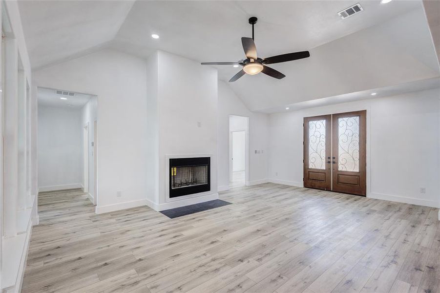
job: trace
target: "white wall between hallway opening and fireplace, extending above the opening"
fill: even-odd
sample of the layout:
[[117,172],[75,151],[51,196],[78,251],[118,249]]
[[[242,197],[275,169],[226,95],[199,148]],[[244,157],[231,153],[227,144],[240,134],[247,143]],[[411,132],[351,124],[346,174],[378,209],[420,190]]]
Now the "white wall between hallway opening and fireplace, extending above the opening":
[[145,204],[146,71],[145,60],[104,49],[34,73],[38,86],[98,96],[98,213]]

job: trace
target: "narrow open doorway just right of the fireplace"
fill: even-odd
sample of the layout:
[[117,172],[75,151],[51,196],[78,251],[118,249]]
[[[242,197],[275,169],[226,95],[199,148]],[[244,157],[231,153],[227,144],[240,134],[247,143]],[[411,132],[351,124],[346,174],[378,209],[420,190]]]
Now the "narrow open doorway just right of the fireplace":
[[230,115],[230,187],[239,187],[248,182],[248,123],[249,118]]

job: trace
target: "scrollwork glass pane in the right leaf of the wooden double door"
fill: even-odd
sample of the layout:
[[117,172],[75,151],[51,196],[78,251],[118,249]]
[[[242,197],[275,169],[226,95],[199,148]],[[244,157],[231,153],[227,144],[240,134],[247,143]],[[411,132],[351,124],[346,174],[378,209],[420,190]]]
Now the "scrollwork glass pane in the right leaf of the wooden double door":
[[359,116],[338,119],[338,170],[359,172]]

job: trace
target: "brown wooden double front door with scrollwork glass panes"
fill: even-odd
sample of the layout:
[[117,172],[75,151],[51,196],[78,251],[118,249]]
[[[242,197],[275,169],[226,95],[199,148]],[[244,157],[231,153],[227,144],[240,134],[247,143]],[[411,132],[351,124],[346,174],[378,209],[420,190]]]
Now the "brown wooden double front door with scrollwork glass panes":
[[366,195],[366,111],[304,118],[304,187]]

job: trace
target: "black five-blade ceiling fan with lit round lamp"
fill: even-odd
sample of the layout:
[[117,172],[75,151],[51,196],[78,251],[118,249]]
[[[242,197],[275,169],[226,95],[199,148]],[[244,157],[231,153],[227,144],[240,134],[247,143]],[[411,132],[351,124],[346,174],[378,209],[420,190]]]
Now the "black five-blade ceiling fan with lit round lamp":
[[251,17],[249,23],[252,24],[252,38],[241,38],[241,43],[245,51],[246,59],[238,62],[204,62],[202,65],[241,65],[243,69],[235,74],[229,82],[235,82],[237,79],[245,75],[245,73],[254,75],[260,72],[272,76],[277,79],[286,77],[281,72],[266,66],[266,64],[281,63],[310,57],[309,51],[294,52],[261,59],[257,57],[257,49],[253,42],[253,25],[257,23],[256,17]]

